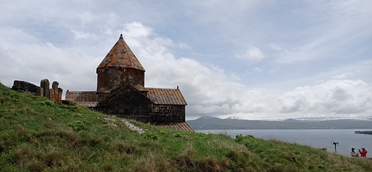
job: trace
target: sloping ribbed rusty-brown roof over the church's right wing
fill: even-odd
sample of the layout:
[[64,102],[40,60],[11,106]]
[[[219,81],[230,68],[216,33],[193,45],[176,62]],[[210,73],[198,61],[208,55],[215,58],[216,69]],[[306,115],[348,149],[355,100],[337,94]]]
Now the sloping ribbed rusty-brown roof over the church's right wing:
[[185,98],[179,89],[146,88],[147,97],[155,104],[164,105],[187,105]]

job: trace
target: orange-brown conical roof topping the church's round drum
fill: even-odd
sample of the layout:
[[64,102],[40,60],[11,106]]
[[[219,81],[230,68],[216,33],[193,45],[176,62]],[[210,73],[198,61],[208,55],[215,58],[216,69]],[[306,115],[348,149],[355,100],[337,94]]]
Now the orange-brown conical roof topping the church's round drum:
[[97,69],[102,67],[128,67],[145,71],[140,61],[125,43],[122,34]]

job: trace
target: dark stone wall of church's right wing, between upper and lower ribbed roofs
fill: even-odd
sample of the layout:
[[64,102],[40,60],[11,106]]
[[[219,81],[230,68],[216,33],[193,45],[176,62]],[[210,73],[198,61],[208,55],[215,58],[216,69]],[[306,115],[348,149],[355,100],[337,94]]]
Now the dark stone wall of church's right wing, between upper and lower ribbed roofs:
[[153,123],[185,122],[185,105],[153,104]]

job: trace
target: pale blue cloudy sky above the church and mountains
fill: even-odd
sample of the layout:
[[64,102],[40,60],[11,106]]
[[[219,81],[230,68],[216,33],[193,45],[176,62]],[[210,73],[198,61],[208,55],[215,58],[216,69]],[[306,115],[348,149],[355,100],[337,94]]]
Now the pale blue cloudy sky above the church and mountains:
[[121,32],[186,120],[372,115],[372,1],[0,1],[0,81],[95,91]]

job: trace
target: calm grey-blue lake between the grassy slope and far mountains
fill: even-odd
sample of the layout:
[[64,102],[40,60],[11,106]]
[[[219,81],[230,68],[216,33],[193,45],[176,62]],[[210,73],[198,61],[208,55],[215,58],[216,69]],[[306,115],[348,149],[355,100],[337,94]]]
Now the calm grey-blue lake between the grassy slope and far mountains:
[[277,139],[288,143],[298,143],[311,147],[325,147],[328,152],[334,152],[332,141],[339,142],[336,146],[337,153],[350,156],[351,148],[361,149],[364,147],[372,157],[372,135],[354,134],[354,131],[371,131],[371,129],[348,129],[348,130],[195,130],[197,133],[227,133],[231,138],[236,135],[248,134],[256,138]]

